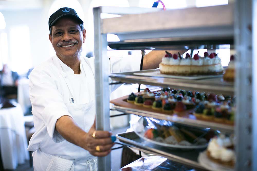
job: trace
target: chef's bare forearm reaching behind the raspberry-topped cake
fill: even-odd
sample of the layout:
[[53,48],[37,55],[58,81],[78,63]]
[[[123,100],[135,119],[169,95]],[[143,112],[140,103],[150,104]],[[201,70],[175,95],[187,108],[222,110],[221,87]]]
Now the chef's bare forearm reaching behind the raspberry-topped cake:
[[[167,50],[169,53],[182,55],[187,50]],[[165,55],[165,50],[153,50],[144,56],[143,69],[156,69],[159,68],[162,57]]]

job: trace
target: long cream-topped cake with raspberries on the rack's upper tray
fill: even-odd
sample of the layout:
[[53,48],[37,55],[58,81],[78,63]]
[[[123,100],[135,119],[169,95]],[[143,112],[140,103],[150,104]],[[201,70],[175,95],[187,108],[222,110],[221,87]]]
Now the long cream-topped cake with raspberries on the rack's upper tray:
[[215,53],[204,53],[204,57],[195,54],[192,58],[188,53],[186,58],[177,54],[171,54],[166,51],[159,65],[162,74],[172,75],[205,75],[205,74],[222,74],[223,66],[221,59]]

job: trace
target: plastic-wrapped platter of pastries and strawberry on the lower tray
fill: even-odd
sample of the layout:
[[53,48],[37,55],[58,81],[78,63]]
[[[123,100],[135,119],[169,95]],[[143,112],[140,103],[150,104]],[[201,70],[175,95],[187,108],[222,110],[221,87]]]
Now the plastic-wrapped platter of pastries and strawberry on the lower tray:
[[210,138],[219,134],[209,128],[189,127],[143,116],[132,120],[131,125],[140,138],[172,149],[203,149]]

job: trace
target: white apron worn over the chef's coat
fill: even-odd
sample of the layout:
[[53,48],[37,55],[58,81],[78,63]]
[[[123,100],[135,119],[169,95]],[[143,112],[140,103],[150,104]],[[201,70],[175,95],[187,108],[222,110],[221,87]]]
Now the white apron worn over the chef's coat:
[[[90,65],[81,60],[84,74],[87,77],[89,87],[95,87],[94,74]],[[59,72],[63,82],[63,98],[68,112],[74,118],[75,122],[85,131],[88,132],[95,120],[95,97],[94,91],[87,90],[92,99],[86,104],[76,104],[71,84],[69,83],[69,75]],[[86,98],[86,97],[85,97]],[[76,134],[76,132],[74,132]],[[47,171],[79,171],[79,170],[97,170],[97,157],[92,156],[87,150],[76,146],[67,140],[55,143],[49,135],[45,135],[38,150],[33,153],[34,170]]]

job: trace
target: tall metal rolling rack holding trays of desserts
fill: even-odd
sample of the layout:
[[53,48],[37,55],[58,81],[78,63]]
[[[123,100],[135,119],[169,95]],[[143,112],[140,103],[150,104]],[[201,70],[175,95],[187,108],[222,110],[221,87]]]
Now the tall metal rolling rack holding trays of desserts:
[[[207,121],[191,120],[144,112],[120,106],[118,111],[157,119],[170,120],[189,126],[210,127],[224,132],[234,132],[236,138],[236,170],[257,170],[256,150],[256,1],[235,1],[229,5],[186,8],[162,11],[157,8],[96,7],[94,14],[95,79],[96,79],[96,129],[110,130],[109,84],[139,83],[169,86],[185,90],[201,90],[227,95],[236,95],[235,125],[227,126]],[[201,13],[199,13],[201,11]],[[121,17],[101,19],[101,13],[120,14]],[[127,15],[129,14],[129,15]],[[107,42],[107,34],[116,34],[120,42]],[[255,37],[255,40],[254,40]],[[252,41],[253,40],[253,41]],[[198,81],[183,79],[147,77],[133,72],[108,74],[107,46],[114,50],[135,49],[200,49],[219,48],[230,44],[236,50],[236,79],[234,83],[209,78]],[[141,71],[139,71],[141,72]],[[254,105],[255,104],[255,105]],[[119,134],[124,145],[146,153],[164,156],[196,169],[206,170],[197,157],[198,151],[172,151],[154,144],[140,145],[140,139],[133,133]],[[256,141],[255,141],[256,142]],[[254,162],[255,161],[255,162]],[[111,156],[98,157],[98,170],[111,170]]]

